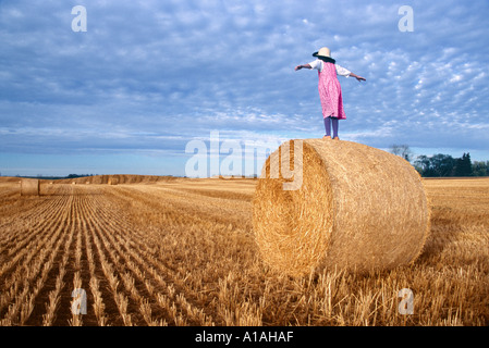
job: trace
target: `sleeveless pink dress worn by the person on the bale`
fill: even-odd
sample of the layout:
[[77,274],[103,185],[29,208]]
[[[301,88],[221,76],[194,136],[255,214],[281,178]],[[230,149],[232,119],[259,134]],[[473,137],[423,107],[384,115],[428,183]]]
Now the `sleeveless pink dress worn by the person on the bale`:
[[341,86],[337,76],[337,69],[333,63],[323,62],[322,71],[318,72],[319,98],[321,99],[322,117],[337,117],[346,120],[343,109],[343,98]]

